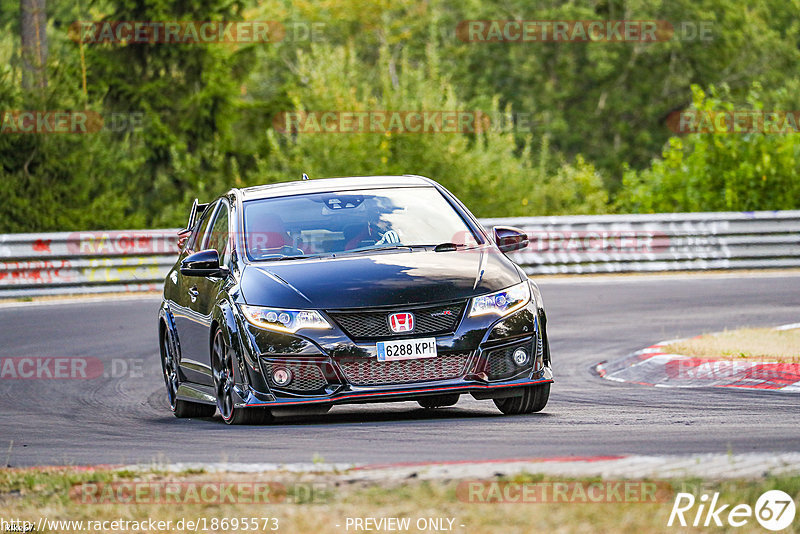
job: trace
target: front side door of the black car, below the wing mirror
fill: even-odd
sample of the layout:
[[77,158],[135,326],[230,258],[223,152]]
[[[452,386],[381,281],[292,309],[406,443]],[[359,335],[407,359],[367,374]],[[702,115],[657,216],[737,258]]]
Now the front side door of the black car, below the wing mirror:
[[[202,241],[198,241],[197,250],[215,249],[219,253],[220,263],[229,267],[229,228],[230,208],[228,201],[218,201],[216,210],[204,233]],[[187,367],[184,371],[192,373],[192,381],[200,384],[213,385],[211,375],[211,320],[217,295],[225,282],[224,277],[218,276],[192,276],[186,277],[189,286],[187,294],[187,315],[191,320],[186,322],[186,335],[190,351]],[[186,361],[186,360],[184,360]],[[182,361],[183,364],[183,361]]]

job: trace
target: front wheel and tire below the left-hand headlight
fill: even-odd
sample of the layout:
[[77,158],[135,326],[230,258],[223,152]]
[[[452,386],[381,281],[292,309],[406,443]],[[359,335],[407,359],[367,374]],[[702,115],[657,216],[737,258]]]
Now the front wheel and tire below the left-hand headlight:
[[229,425],[261,425],[272,421],[272,413],[264,408],[236,408],[233,401],[233,386],[236,385],[233,356],[228,349],[221,328],[214,334],[211,346],[211,370],[214,375],[216,409],[222,420]]

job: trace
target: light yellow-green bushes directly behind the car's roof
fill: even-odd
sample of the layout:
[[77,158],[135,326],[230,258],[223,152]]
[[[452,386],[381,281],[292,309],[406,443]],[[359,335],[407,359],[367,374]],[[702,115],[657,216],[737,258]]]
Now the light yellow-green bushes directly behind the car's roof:
[[[430,50],[429,54],[435,51]],[[292,70],[305,83],[289,89],[304,110],[462,110],[453,86],[433,69],[414,69],[401,54],[380,49],[378,67],[364,69],[347,47],[314,46]],[[435,65],[429,57],[427,64]],[[375,82],[373,82],[375,80]],[[375,90],[374,86],[380,87]],[[497,102],[483,110],[495,116]],[[510,110],[509,110],[510,111]],[[530,139],[519,151],[510,132],[489,128],[462,133],[267,133],[271,158],[254,183],[310,176],[421,174],[434,177],[480,216],[603,211],[602,180],[591,165],[551,162],[547,143],[540,162]]]

